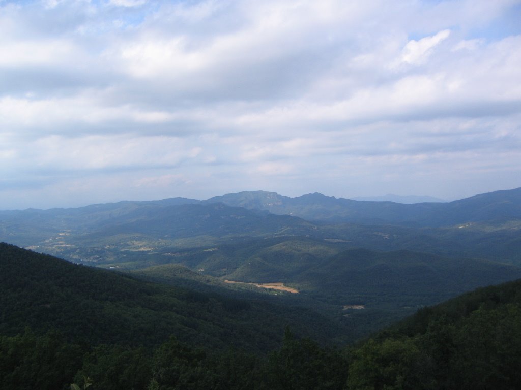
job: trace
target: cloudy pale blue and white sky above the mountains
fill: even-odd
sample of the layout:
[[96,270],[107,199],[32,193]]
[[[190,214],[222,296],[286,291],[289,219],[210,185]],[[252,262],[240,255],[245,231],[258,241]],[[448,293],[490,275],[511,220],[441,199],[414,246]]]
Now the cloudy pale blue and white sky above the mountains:
[[521,187],[521,1],[0,0],[0,209]]

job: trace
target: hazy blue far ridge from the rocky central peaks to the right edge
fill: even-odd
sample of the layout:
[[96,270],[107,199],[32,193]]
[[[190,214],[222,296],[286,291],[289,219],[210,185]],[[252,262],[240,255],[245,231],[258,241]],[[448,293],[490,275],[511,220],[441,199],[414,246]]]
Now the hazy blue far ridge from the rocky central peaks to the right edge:
[[266,210],[273,214],[288,214],[310,221],[363,225],[437,227],[521,218],[521,188],[479,194],[447,203],[356,201],[328,197],[320,193],[290,198],[265,191],[227,194],[203,202],[222,202],[230,206]]

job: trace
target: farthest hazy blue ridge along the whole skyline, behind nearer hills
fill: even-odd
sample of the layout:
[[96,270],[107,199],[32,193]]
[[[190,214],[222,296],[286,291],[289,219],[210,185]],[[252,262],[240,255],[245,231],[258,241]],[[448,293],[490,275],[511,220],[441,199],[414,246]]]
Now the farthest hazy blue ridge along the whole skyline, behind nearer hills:
[[[396,203],[357,201],[325,196],[318,192],[287,197],[276,192],[242,191],[206,200],[169,198],[157,201],[121,201],[94,204],[75,209],[27,209],[0,211],[0,222],[19,221],[29,224],[67,224],[89,226],[104,220],[123,218],[143,210],[164,209],[188,204],[222,203],[232,207],[259,210],[277,215],[291,215],[307,221],[354,223],[362,225],[401,225],[440,227],[468,222],[521,219],[521,188],[494,191],[452,202]],[[138,210],[140,210],[138,212]],[[1,227],[0,227],[1,228]]]

